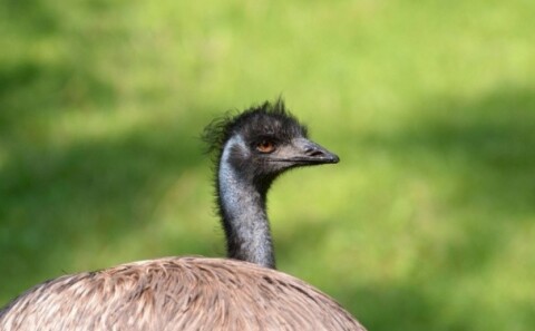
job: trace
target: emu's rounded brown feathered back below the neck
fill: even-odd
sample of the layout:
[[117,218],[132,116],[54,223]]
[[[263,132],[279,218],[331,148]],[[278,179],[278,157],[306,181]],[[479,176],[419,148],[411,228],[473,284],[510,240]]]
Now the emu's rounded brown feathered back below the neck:
[[363,330],[303,281],[252,263],[204,257],[58,278],[13,302],[0,325],[6,331]]

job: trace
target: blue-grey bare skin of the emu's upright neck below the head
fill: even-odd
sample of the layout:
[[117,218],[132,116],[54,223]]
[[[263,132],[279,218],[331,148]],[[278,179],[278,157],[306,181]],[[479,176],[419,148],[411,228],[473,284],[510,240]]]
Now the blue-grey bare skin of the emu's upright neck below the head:
[[264,187],[255,185],[252,175],[231,160],[234,153],[247,153],[240,136],[226,142],[217,173],[217,196],[228,257],[274,269],[273,243],[265,211],[269,184]]

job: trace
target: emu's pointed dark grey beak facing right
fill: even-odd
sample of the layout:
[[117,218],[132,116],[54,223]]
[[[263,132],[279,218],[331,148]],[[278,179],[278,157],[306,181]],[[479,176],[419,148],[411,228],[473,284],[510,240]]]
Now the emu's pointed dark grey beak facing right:
[[290,162],[299,166],[339,163],[340,158],[314,142],[298,138],[291,145],[285,146],[284,150],[281,150],[273,160]]

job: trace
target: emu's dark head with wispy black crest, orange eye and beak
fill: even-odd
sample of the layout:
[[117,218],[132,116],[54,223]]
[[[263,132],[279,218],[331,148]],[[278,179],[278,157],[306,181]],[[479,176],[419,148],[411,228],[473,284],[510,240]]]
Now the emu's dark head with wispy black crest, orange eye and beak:
[[227,163],[262,191],[286,169],[339,162],[308,138],[307,127],[285,110],[281,99],[213,121],[204,139],[208,150],[217,150],[217,167]]

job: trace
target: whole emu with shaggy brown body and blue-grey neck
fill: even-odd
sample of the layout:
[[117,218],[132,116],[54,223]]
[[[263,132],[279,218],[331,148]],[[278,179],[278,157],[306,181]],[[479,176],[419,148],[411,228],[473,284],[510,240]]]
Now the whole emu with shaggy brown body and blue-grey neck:
[[0,330],[364,331],[332,298],[275,269],[266,213],[278,176],[339,157],[308,138],[281,98],[227,113],[203,139],[226,259],[171,256],[61,275],[0,310]]

